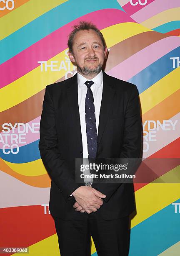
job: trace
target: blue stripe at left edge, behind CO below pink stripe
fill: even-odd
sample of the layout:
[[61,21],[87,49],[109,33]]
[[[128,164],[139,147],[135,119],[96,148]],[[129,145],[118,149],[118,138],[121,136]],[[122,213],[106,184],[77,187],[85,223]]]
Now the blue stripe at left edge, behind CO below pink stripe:
[[[5,161],[16,163],[16,164],[35,161],[37,159],[40,159],[40,151],[38,149],[38,143],[39,143],[39,140],[34,141],[28,145],[19,147],[18,154],[10,153],[6,155],[2,152],[2,149],[0,149],[0,157]],[[5,149],[5,151],[8,152],[10,151],[10,149]],[[16,152],[16,148],[14,148],[13,151]]]

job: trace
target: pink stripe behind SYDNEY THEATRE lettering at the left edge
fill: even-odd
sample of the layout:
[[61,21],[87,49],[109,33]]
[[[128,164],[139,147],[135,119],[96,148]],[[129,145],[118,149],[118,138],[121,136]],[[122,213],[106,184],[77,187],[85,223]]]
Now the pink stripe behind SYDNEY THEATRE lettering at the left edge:
[[[32,121],[30,121],[30,122],[28,123],[28,124],[30,125],[30,127],[32,127],[32,123],[40,123],[40,116],[38,116],[37,118],[35,118],[34,120],[32,120]],[[39,125],[36,125],[36,127],[38,127],[38,126],[39,126]],[[10,127],[9,127],[9,128],[10,128]],[[22,129],[23,129],[23,128],[20,128],[21,131],[23,131]],[[7,130],[5,130],[5,131],[7,131]],[[38,129],[36,128],[35,131],[38,131]],[[18,128],[15,128],[14,133],[15,133],[15,134],[18,134]],[[26,132],[24,132],[24,133],[26,133]],[[2,134],[5,134],[5,133],[0,133],[0,134],[2,135]],[[10,130],[10,133],[8,133],[8,134],[13,134],[13,130],[11,129],[11,130]],[[22,141],[25,141],[26,143],[24,143],[24,144],[16,143],[16,144],[18,144],[19,147],[28,145],[28,144],[32,143],[33,141],[37,141],[37,140],[40,138],[40,134],[39,134],[39,131],[38,131],[38,133],[32,133],[30,130],[28,130],[28,133],[26,133],[26,135],[23,136],[23,137],[25,137],[25,140],[22,140]],[[4,140],[5,140],[5,137],[4,137],[4,136],[2,136],[2,138],[4,138]],[[10,144],[10,138],[9,138],[9,136],[7,137],[7,140],[8,140],[8,143],[7,143],[7,144]],[[3,146],[3,145],[4,145],[4,144],[3,144],[2,142],[0,142],[0,148],[1,148],[1,149],[2,149],[2,146]]]

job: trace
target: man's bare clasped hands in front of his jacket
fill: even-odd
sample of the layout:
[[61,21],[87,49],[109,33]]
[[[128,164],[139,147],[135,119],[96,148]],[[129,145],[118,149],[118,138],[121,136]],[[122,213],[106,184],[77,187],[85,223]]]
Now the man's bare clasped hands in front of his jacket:
[[78,187],[74,192],[72,192],[72,195],[75,197],[78,204],[74,204],[75,207],[73,207],[75,210],[83,212],[83,209],[88,214],[92,211],[96,212],[103,204],[102,198],[106,197],[106,195],[89,186]]

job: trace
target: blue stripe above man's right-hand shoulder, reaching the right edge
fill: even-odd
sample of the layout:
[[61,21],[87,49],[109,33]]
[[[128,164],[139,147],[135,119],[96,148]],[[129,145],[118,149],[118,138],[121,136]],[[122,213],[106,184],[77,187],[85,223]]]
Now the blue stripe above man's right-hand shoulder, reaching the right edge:
[[[136,84],[139,94],[174,70],[170,57],[180,57],[180,46],[143,69],[128,82]],[[137,60],[138,61],[138,60]]]

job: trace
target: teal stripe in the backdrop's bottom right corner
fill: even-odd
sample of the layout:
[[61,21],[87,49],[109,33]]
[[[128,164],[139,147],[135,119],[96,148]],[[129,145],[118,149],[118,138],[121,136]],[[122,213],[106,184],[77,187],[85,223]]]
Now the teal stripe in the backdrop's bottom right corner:
[[170,204],[132,228],[129,256],[156,256],[162,253],[180,240],[179,227],[180,213],[175,213],[174,205]]

